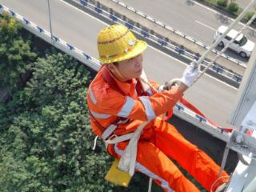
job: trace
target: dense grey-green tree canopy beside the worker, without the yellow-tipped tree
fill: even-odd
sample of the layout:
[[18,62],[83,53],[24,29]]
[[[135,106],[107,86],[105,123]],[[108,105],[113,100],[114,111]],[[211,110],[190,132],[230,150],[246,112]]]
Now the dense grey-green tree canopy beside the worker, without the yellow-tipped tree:
[[110,157],[86,109],[89,73],[74,59],[39,58],[24,90],[0,108],[2,191],[112,191]]

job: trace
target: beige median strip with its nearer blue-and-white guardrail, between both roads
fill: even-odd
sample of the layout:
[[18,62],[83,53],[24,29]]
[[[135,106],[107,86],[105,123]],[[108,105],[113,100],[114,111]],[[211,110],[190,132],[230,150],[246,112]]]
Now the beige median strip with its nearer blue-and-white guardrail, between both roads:
[[[154,38],[154,41],[157,41],[162,46],[170,47],[171,49],[174,49],[174,52],[178,52],[178,54],[184,55],[185,53],[185,55],[189,56],[190,58],[192,57],[192,60],[194,58],[198,58],[198,56],[204,54],[206,51],[206,48],[202,46],[198,46],[198,44],[196,44],[193,41],[192,42],[188,41],[187,40],[187,38],[189,38],[188,36],[184,34],[183,35],[178,34],[178,32],[177,33],[170,32],[170,30],[168,30],[169,29],[168,26],[162,26],[160,22],[156,22],[156,23],[151,22],[150,20],[147,20],[145,17],[142,17],[137,13],[134,13],[126,9],[125,7],[118,5],[116,2],[114,2],[114,0],[102,0],[101,2],[96,2],[94,0],[90,0],[90,2],[88,0],[64,0],[64,1],[82,10],[89,8],[88,10],[90,10],[90,12],[91,10],[93,10],[98,14],[98,16],[102,16],[103,20],[106,19],[106,14],[107,14],[108,15],[107,18],[110,18],[112,22],[122,21],[121,22],[122,24],[130,28],[130,30],[134,30],[135,33],[141,34],[142,37],[147,39]],[[118,10],[118,12],[121,12],[122,14],[119,14],[114,10]],[[107,22],[107,23],[110,23],[110,22]],[[143,26],[140,23],[143,23]],[[149,30],[149,29],[154,29],[154,30]],[[180,43],[177,43],[177,42],[180,42]],[[188,46],[190,49],[188,49]],[[208,58],[206,58],[206,62],[209,63],[211,60],[215,58],[215,56],[216,54],[214,52],[211,52],[208,55]],[[226,73],[228,73],[228,76],[230,76],[229,73],[234,74],[234,75],[231,75],[230,78],[232,78],[233,76],[238,76],[242,78],[242,75],[246,68],[246,65],[244,64],[239,65],[222,57],[218,58],[218,62],[215,62],[214,64],[215,66],[217,66],[217,68],[221,68],[221,70],[225,70]]]

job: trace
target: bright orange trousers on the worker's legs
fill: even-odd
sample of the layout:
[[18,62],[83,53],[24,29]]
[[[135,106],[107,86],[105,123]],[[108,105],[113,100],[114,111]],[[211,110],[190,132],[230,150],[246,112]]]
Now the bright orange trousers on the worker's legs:
[[[199,190],[190,182],[178,167],[171,162],[173,158],[188,171],[206,190],[210,190],[210,186],[218,178],[219,166],[202,150],[198,150],[190,142],[186,141],[174,126],[166,123],[158,118],[152,126],[154,135],[149,141],[141,140],[138,142],[137,162],[149,170],[150,173],[157,175],[157,182],[161,183],[164,190],[173,189],[177,192],[198,192]],[[118,143],[116,153],[118,150],[124,150],[128,142]],[[120,151],[119,151],[120,152]],[[168,158],[168,157],[170,158]],[[136,169],[139,170],[136,164]],[[139,170],[144,174],[142,170]],[[147,174],[149,175],[149,174]],[[226,176],[226,172],[222,175]],[[151,177],[151,175],[149,175]],[[154,177],[153,177],[154,178]],[[161,179],[159,179],[161,178]],[[169,188],[166,188],[166,182]],[[223,179],[223,182],[226,179]]]

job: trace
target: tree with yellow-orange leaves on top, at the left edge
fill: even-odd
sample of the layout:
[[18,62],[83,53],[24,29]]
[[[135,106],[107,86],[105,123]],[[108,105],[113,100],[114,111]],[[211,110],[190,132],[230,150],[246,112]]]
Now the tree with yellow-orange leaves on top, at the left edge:
[[0,18],[0,87],[13,94],[30,74],[37,54],[30,49],[30,42],[24,41],[20,25],[14,18],[4,15]]

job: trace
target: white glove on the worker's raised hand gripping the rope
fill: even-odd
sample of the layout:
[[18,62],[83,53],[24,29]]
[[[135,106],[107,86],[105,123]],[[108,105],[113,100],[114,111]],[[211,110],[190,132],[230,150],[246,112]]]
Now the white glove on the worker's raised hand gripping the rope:
[[186,86],[192,86],[194,80],[200,74],[200,70],[198,66],[196,66],[196,61],[190,63],[189,66],[186,66],[186,70],[183,72],[183,76],[181,78],[181,82],[183,82]]

